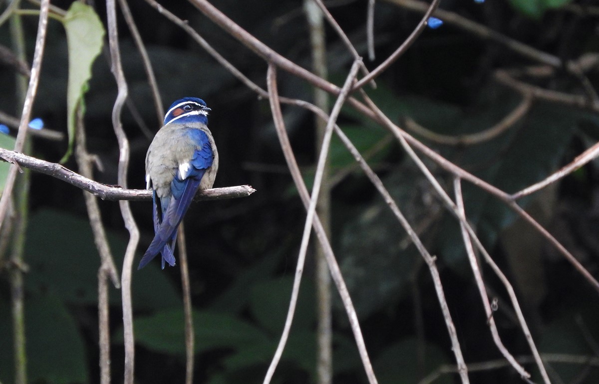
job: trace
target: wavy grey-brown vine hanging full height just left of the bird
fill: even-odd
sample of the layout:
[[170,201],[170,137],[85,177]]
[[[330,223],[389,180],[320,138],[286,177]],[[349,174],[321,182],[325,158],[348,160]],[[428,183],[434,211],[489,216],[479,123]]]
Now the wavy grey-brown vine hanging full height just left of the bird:
[[[123,74],[119,51],[119,32],[117,31],[116,2],[106,1],[108,21],[108,44],[110,45],[111,71],[117,83],[117,97],[114,100],[112,123],[114,133],[119,141],[119,184],[127,186],[127,168],[129,166],[129,141],[120,121],[120,114],[127,99],[127,83]],[[135,249],[140,240],[140,231],[135,224],[131,206],[126,200],[119,200],[120,211],[129,231],[129,242],[125,250],[123,270],[121,275],[121,295],[123,307],[123,339],[125,340],[125,384],[133,384],[135,367],[135,339],[133,335],[133,304],[131,300],[131,267],[135,257]]]

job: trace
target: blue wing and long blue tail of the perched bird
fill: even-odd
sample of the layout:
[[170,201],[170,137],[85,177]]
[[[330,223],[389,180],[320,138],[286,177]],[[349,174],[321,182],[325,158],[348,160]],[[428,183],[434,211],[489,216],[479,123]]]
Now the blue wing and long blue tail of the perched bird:
[[[190,140],[198,144],[199,149],[194,151],[189,163],[192,166],[187,178],[181,180],[176,175],[171,182],[171,196],[162,197],[160,200],[162,216],[158,218],[158,204],[156,192],[153,195],[153,220],[155,236],[146,253],[141,258],[138,269],[146,266],[158,253],[162,254],[162,268],[165,263],[175,265],[173,251],[177,240],[177,228],[183,220],[185,212],[192,202],[204,177],[207,168],[212,165],[213,151],[208,141],[208,136],[202,130],[192,130]],[[169,243],[170,242],[170,243]]]

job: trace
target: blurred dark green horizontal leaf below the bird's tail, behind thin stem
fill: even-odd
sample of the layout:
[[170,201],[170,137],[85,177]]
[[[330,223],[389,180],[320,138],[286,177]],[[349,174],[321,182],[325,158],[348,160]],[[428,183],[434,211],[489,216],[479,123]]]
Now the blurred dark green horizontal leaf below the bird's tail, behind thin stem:
[[[150,316],[138,316],[134,321],[135,341],[148,349],[162,353],[184,355],[183,310],[162,310]],[[242,349],[269,343],[268,337],[253,325],[226,313],[193,311],[196,353],[210,349]],[[116,341],[122,343],[122,331]]]

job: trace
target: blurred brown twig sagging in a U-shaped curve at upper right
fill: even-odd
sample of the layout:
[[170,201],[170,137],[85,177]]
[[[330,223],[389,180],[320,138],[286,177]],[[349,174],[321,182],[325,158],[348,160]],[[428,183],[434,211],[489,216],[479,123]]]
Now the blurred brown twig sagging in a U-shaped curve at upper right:
[[406,128],[412,132],[422,136],[425,139],[434,141],[437,144],[445,145],[475,145],[485,141],[496,138],[501,133],[506,132],[520,120],[524,115],[530,111],[530,107],[533,105],[533,95],[531,93],[524,93],[522,95],[522,101],[513,109],[512,112],[507,114],[501,121],[494,126],[482,130],[477,133],[470,133],[468,135],[452,136],[442,135],[441,133],[432,132],[431,130],[421,126],[412,120],[412,118],[406,118]]

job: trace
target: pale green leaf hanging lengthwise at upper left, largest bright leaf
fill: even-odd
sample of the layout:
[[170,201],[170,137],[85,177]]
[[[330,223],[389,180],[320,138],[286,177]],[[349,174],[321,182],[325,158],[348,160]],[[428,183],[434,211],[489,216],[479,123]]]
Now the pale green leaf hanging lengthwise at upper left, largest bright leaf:
[[[66,91],[67,129],[69,147],[60,160],[64,163],[72,153],[75,140],[75,113],[85,108],[83,96],[87,81],[92,77],[92,64],[102,51],[104,27],[92,7],[74,1],[66,12],[63,25],[69,51],[69,80]],[[84,112],[84,109],[83,111]]]

